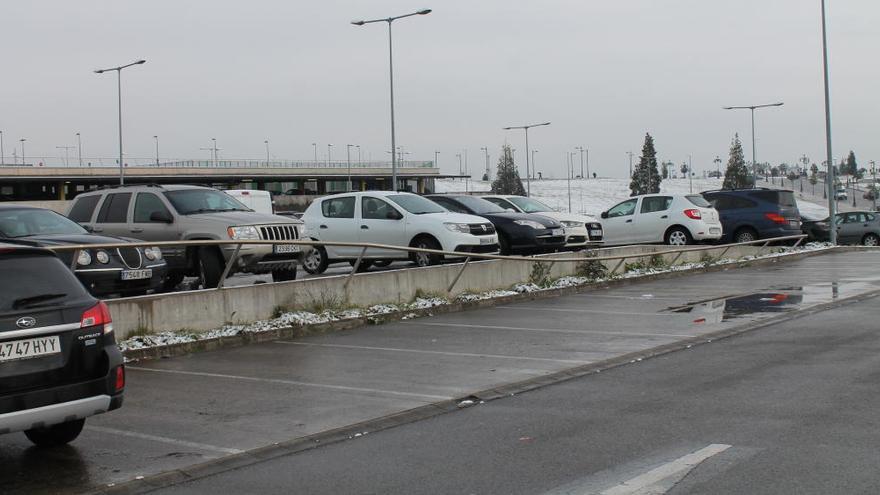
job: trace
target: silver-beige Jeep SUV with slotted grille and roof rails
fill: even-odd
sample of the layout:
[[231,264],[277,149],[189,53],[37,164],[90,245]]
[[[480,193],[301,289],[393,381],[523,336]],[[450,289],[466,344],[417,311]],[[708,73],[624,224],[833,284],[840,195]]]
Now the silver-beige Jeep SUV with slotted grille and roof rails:
[[[115,186],[77,196],[67,216],[91,230],[144,241],[177,240],[296,240],[302,222],[256,213],[232,196],[200,186]],[[166,288],[184,276],[196,276],[203,288],[216,287],[226,262],[235,252],[228,246],[169,246],[162,248],[168,263]],[[230,270],[272,273],[276,282],[296,278],[302,256],[299,246],[244,245]]]

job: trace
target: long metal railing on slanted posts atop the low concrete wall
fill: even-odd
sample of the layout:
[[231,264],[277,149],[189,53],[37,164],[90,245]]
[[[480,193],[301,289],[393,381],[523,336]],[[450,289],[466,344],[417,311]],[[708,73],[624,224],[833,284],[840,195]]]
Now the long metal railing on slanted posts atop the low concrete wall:
[[[228,240],[228,241],[217,241],[217,240],[197,240],[197,241],[161,241],[161,242],[123,242],[123,243],[107,243],[107,244],[76,244],[76,245],[66,245],[66,246],[47,246],[46,249],[49,249],[53,252],[66,252],[73,251],[72,257],[72,267],[76,267],[76,260],[79,256],[79,252],[82,250],[95,250],[95,249],[117,249],[117,248],[125,248],[125,247],[162,247],[166,246],[192,246],[192,247],[203,247],[203,246],[235,246],[235,251],[232,256],[229,257],[229,260],[226,262],[226,265],[223,269],[223,274],[220,277],[220,283],[216,287],[216,290],[223,289],[224,281],[229,276],[232,271],[232,267],[235,266],[235,263],[238,261],[238,255],[241,251],[242,246],[250,246],[250,245],[295,245],[295,246],[305,246],[305,247],[315,247],[315,246],[338,246],[338,247],[356,247],[361,248],[360,254],[357,256],[354,265],[352,266],[351,273],[348,275],[348,278],[345,281],[344,287],[347,289],[349,283],[351,282],[352,277],[358,273],[358,269],[361,266],[361,263],[364,261],[364,258],[371,257],[368,256],[368,249],[382,249],[382,250],[390,250],[390,251],[403,251],[407,253],[425,253],[430,255],[441,255],[450,258],[464,258],[464,262],[461,265],[458,273],[455,278],[450,283],[449,287],[446,289],[447,292],[451,292],[455,285],[458,283],[461,276],[464,274],[464,271],[467,269],[468,264],[472,260],[507,260],[507,261],[520,261],[520,262],[528,262],[528,263],[587,263],[587,262],[614,262],[617,261],[617,264],[614,265],[614,268],[609,270],[608,273],[616,273],[621,266],[623,266],[626,260],[635,260],[641,258],[651,258],[654,256],[665,256],[665,255],[675,255],[670,265],[675,265],[675,263],[681,258],[681,256],[685,253],[697,253],[703,251],[713,251],[713,250],[721,250],[721,254],[718,255],[718,258],[723,258],[731,248],[738,246],[754,246],[759,245],[758,253],[756,256],[760,256],[763,253],[763,250],[767,248],[771,243],[776,242],[786,242],[786,241],[795,241],[792,248],[796,248],[803,242],[804,239],[807,238],[807,235],[791,235],[785,237],[773,237],[770,239],[759,239],[756,241],[749,242],[740,242],[733,244],[717,244],[717,245],[703,245],[703,246],[687,246],[681,248],[673,248],[666,249],[660,251],[653,251],[650,253],[639,253],[639,254],[625,254],[625,255],[616,255],[616,256],[599,256],[599,253],[603,250],[607,249],[619,249],[620,247],[628,247],[628,246],[618,246],[614,248],[594,248],[587,249],[581,251],[581,253],[592,253],[592,255],[587,256],[578,256],[578,257],[564,257],[564,258],[546,258],[546,257],[534,257],[534,256],[510,256],[510,255],[500,255],[500,254],[482,254],[482,253],[467,253],[467,252],[459,252],[459,251],[443,251],[439,249],[424,249],[424,248],[416,248],[416,247],[408,247],[408,246],[392,246],[388,244],[375,244],[375,243],[363,243],[363,242],[325,242],[325,241],[311,241],[311,240],[296,240],[296,241],[264,241],[264,240]],[[379,258],[379,257],[377,257]]]

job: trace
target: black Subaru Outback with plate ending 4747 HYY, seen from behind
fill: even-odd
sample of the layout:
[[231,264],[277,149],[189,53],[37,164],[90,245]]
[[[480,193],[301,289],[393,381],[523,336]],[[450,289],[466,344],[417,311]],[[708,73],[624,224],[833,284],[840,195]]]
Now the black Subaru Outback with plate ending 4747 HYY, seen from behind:
[[87,417],[122,405],[110,311],[47,249],[0,242],[0,273],[0,433],[71,442]]

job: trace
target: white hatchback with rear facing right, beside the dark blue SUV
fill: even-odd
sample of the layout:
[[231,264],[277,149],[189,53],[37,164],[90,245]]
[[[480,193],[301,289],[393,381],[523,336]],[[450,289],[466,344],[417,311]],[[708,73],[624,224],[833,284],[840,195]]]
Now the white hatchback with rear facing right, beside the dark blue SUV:
[[717,241],[718,212],[699,194],[648,194],[602,212],[605,245]]

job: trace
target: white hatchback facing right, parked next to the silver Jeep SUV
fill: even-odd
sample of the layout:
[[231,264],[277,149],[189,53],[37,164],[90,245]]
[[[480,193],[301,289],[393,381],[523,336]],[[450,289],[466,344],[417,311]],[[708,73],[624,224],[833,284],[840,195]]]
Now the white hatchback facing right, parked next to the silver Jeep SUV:
[[[495,253],[498,236],[485,219],[450,213],[421,196],[391,191],[335,194],[316,199],[303,215],[303,237],[324,242],[360,242],[466,253]],[[309,252],[303,267],[321,273],[329,263],[354,260],[362,248],[320,246]],[[370,248],[359,269],[374,262],[413,261],[417,266],[439,263],[440,255]]]

